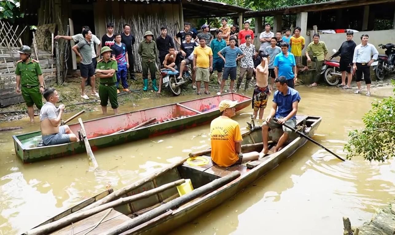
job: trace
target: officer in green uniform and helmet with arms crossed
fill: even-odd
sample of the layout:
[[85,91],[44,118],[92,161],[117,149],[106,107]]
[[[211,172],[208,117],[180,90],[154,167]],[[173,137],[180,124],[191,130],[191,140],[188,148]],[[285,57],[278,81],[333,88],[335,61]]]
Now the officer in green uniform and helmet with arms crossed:
[[111,50],[109,47],[103,47],[100,55],[103,56],[96,66],[96,77],[100,78],[99,96],[100,105],[102,105],[103,114],[107,114],[107,104],[110,100],[111,108],[114,114],[118,114],[118,96],[117,96],[117,60],[111,58]]

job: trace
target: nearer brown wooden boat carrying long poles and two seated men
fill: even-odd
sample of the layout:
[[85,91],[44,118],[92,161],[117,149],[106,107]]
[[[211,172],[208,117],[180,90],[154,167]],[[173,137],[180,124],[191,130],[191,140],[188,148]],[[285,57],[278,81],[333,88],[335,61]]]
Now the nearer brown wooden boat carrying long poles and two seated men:
[[[302,128],[303,133],[309,137],[312,137],[320,125],[320,122],[320,117],[297,116],[297,124],[299,126],[301,126],[301,124],[305,125]],[[269,139],[274,141],[269,147],[275,145],[275,142],[281,134],[281,129],[271,130],[269,132]],[[262,139],[260,128],[245,132],[242,135],[242,152],[261,151]],[[41,224],[43,227],[38,226],[28,231],[26,234],[39,234],[34,232],[45,228],[45,226],[52,227],[52,231],[40,234],[69,235],[71,231],[73,231],[73,234],[85,234],[90,230],[92,234],[166,234],[234,196],[243,188],[275,168],[280,162],[290,157],[306,142],[307,140],[305,138],[299,137],[296,133],[292,133],[286,146],[278,152],[265,156],[258,161],[227,168],[213,165],[211,161],[207,165],[201,166],[192,166],[188,164],[188,161],[172,164],[167,169],[162,169],[144,179],[134,182],[132,188],[128,187],[129,190],[131,189],[130,192],[120,195],[119,192],[123,192],[125,188],[117,190],[117,193],[105,191],[96,197],[92,197],[62,212],[62,214],[58,214]],[[203,158],[209,158],[209,156],[203,156]],[[247,167],[248,164],[253,165],[253,168],[249,169]],[[98,201],[102,201],[103,199],[100,200],[100,198],[104,196],[118,195],[117,197],[121,197],[121,199],[127,199],[132,195],[139,195],[141,192],[147,193],[152,190],[158,190],[159,187],[163,187],[166,183],[180,179],[190,179],[194,190],[183,196],[179,196],[175,187],[169,188],[164,192],[153,194],[148,198],[133,201],[125,205],[119,205],[113,207],[113,209],[107,208],[90,217],[86,217],[79,221],[73,221],[72,226],[71,221],[68,220],[68,224],[58,226],[56,231],[53,227],[56,223],[59,224],[62,220],[65,221],[67,218],[78,214],[79,212],[74,214],[71,213],[81,208],[85,209],[82,209],[83,212],[80,213],[85,213],[102,207],[103,205],[98,206]],[[223,179],[228,179],[228,181],[218,184],[218,181]],[[175,205],[175,203],[179,201],[181,201],[181,203]],[[111,203],[113,202],[115,201]],[[105,216],[106,214],[107,217]],[[106,217],[106,219],[98,223],[103,216]],[[97,224],[99,225],[95,227]]]

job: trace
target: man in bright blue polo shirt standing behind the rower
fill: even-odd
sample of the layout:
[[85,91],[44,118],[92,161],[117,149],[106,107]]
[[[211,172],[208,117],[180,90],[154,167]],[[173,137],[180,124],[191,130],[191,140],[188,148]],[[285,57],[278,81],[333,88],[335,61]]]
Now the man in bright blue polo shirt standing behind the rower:
[[293,88],[297,81],[296,62],[292,53],[288,52],[288,43],[281,44],[281,53],[274,58],[274,73],[276,77],[284,76],[287,79],[287,85]]

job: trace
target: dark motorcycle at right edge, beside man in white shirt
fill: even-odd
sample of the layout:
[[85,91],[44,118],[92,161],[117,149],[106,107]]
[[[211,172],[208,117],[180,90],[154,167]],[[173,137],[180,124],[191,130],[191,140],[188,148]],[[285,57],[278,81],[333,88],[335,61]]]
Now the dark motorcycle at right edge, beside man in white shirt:
[[381,81],[387,73],[395,73],[395,45],[393,43],[379,44],[377,49],[380,48],[385,50],[385,54],[379,54],[378,59],[371,66],[373,66],[374,75]]

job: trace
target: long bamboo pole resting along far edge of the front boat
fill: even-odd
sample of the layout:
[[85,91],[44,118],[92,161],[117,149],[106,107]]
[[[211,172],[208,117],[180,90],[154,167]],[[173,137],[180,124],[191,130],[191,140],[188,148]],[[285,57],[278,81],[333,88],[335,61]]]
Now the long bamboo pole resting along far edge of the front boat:
[[94,207],[103,205],[109,201],[113,201],[113,200],[121,197],[122,195],[126,194],[127,192],[130,192],[130,191],[140,187],[141,185],[146,184],[149,181],[152,181],[153,179],[159,177],[160,175],[163,175],[167,171],[183,164],[187,159],[188,158],[184,158],[179,162],[168,165],[167,167],[160,169],[159,171],[156,171],[156,172],[148,175],[147,177],[144,177],[143,179],[137,180],[136,182],[134,182],[132,184],[124,186],[123,188],[120,188],[119,190],[114,191],[112,194],[109,194],[109,195],[103,197],[102,199],[96,201],[95,203],[92,203],[92,204],[88,205],[87,207],[81,209],[81,211],[86,211],[86,210],[92,209]]

